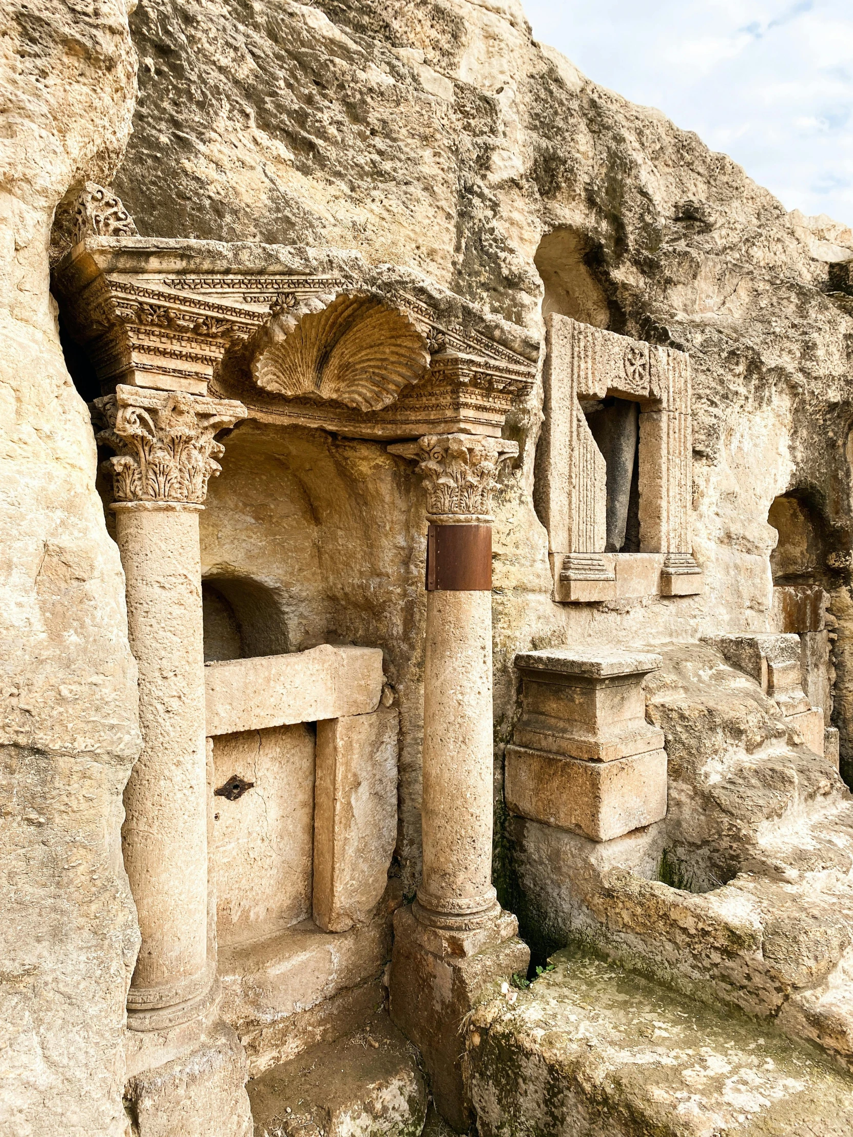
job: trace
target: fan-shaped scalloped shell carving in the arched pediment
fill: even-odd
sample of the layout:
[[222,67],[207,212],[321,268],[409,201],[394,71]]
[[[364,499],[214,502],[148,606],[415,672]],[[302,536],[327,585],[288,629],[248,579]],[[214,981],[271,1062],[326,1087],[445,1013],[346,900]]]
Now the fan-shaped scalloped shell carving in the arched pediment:
[[252,374],[288,398],[379,410],[422,379],[429,362],[424,337],[399,309],[373,296],[338,296],[263,349]]

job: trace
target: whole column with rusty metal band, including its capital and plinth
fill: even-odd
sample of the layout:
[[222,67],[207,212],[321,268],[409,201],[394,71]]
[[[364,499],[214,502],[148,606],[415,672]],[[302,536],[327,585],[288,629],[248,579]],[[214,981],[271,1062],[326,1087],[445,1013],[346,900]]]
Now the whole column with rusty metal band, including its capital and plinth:
[[529,960],[491,883],[491,496],[517,445],[442,434],[389,450],[417,462],[429,522],[423,874],[395,918],[391,1015],[421,1047],[439,1111],[462,1130],[471,1119],[459,1026]]

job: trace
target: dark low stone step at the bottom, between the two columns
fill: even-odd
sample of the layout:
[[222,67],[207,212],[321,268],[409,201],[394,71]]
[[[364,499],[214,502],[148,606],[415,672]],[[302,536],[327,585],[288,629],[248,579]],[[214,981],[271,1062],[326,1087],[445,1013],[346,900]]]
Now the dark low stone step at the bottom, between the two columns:
[[251,1079],[255,1137],[420,1137],[426,1081],[386,1012]]

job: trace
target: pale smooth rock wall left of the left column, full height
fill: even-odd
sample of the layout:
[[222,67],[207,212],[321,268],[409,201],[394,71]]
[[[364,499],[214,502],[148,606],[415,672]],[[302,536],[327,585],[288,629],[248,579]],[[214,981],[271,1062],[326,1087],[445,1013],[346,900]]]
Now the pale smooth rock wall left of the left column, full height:
[[0,1132],[126,1132],[139,748],[124,584],[49,293],[53,209],[130,132],[124,0],[0,7]]

